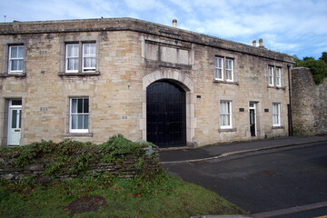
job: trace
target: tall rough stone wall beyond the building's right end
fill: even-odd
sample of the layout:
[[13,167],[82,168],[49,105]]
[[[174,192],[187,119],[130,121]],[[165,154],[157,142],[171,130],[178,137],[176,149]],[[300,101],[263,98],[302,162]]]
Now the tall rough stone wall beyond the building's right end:
[[292,69],[292,124],[296,135],[327,134],[327,78],[314,84],[306,67]]

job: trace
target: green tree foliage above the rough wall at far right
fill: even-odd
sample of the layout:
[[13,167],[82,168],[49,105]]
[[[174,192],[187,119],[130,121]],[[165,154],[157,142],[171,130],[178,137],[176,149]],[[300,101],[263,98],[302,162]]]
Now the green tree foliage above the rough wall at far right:
[[303,66],[311,69],[315,84],[321,84],[327,77],[327,52],[323,52],[319,60],[315,60],[313,57],[303,57],[301,60],[295,55],[294,62],[296,67]]

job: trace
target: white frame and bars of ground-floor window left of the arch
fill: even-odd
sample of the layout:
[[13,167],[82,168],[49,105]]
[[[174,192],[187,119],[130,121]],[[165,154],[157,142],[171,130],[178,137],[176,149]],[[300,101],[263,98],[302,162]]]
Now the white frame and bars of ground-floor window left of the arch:
[[[73,113],[73,100],[79,100],[79,99],[83,99],[83,112],[82,113],[78,113],[78,104],[76,104],[76,112]],[[84,99],[88,100],[88,112],[84,113]],[[87,129],[78,129],[78,128],[74,128],[73,129],[73,115],[81,115],[83,116],[82,122],[84,123],[84,116],[87,115]],[[71,97],[69,99],[69,133],[88,133],[89,132],[89,121],[90,121],[90,99],[88,97]],[[76,126],[78,126],[78,118],[77,118],[77,124]],[[83,124],[84,126],[84,124]]]

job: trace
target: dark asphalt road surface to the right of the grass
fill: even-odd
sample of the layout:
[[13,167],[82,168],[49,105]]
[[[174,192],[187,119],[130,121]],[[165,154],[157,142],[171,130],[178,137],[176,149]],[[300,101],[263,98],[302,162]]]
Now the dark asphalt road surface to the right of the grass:
[[326,142],[164,167],[250,213],[327,201]]

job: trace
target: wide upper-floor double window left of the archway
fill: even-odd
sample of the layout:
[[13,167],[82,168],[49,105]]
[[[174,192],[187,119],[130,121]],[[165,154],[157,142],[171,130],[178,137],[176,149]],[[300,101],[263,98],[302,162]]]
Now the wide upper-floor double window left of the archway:
[[[81,45],[82,54],[80,53]],[[67,44],[65,54],[65,72],[95,72],[95,57],[95,43]]]

